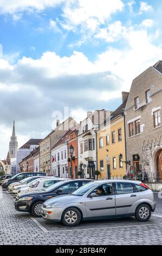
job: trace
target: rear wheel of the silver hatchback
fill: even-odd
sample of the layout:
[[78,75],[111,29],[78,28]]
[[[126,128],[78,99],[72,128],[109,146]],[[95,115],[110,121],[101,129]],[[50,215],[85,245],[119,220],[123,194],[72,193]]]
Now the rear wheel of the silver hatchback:
[[140,204],[135,211],[137,221],[148,221],[151,217],[151,208],[147,204]]

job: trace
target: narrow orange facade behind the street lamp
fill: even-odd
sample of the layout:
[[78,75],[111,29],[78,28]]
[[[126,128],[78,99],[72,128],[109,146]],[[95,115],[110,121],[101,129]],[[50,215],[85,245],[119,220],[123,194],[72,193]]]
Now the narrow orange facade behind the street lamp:
[[68,151],[68,177],[77,179],[78,178],[78,141],[77,141],[77,135],[78,131],[74,130],[72,133],[70,133],[70,136],[68,138],[68,148],[70,145],[74,147],[74,153],[72,157],[72,177],[71,177],[71,156]]

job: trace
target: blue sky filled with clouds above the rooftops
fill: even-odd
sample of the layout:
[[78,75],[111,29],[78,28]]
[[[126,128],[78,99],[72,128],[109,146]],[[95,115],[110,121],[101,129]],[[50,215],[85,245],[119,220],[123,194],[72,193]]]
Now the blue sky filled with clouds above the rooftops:
[[[162,59],[158,0],[0,0],[0,159],[55,119],[115,110]],[[67,111],[68,110],[68,111]]]

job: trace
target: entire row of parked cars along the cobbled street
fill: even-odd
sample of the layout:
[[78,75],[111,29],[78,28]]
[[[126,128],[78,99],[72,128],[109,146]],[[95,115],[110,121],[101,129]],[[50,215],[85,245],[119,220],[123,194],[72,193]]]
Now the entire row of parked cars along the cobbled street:
[[[24,179],[20,180],[21,174]],[[63,179],[45,173],[21,173],[3,182],[17,211],[46,221],[75,226],[82,220],[135,216],[148,221],[154,194],[140,181]],[[30,174],[30,176],[29,176]]]

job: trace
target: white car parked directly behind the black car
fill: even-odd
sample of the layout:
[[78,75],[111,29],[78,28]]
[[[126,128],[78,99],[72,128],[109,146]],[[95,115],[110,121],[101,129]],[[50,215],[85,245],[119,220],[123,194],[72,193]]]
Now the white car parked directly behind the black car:
[[63,181],[65,178],[52,178],[47,176],[45,178],[36,179],[33,181],[30,181],[29,184],[17,186],[13,188],[13,196],[17,196],[17,194],[21,194],[21,191],[24,192],[34,192],[43,190],[46,187],[52,186],[53,184]]

